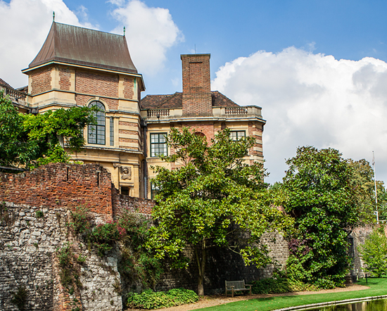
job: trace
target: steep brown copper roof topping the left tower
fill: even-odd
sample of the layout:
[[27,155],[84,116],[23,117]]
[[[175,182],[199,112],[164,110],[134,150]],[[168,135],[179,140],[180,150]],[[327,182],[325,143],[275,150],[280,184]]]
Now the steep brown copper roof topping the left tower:
[[137,73],[125,36],[55,22],[28,68],[51,61]]

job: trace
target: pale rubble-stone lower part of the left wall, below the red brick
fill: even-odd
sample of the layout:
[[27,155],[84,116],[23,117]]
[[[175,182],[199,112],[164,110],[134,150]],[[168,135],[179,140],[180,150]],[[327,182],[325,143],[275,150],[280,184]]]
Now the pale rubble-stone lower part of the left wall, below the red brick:
[[[1,206],[0,310],[18,310],[11,300],[20,286],[27,290],[25,310],[122,310],[117,293],[117,256],[113,252],[110,257],[100,258],[82,239],[73,236],[66,226],[69,210],[13,203]],[[102,220],[99,215],[94,217],[95,222]],[[56,252],[67,243],[76,257],[86,257],[82,264],[73,260],[82,286],[73,286],[71,295],[61,285]]]

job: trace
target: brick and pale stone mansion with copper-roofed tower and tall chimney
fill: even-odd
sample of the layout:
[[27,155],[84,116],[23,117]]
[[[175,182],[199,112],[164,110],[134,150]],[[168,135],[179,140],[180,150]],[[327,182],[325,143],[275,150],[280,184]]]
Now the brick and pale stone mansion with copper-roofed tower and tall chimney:
[[[210,89],[210,54],[181,55],[182,92],[146,95],[125,35],[72,25],[51,25],[42,49],[28,68],[28,86],[13,89],[0,79],[14,105],[23,113],[72,106],[97,106],[96,124],[84,129],[85,146],[72,153],[82,163],[102,165],[121,194],[152,198],[151,166],[170,154],[165,134],[172,127],[191,127],[210,139],[229,128],[231,137],[255,137],[246,161],[262,161],[265,120],[258,106],[239,106]],[[134,60],[135,61],[135,60]]]

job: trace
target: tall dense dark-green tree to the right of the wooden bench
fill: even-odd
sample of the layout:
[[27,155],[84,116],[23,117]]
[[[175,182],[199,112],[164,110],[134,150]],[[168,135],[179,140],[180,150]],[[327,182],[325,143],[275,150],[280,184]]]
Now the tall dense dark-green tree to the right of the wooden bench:
[[286,164],[284,208],[295,222],[288,276],[341,286],[350,264],[347,236],[358,223],[352,170],[339,151],[312,146],[298,148]]

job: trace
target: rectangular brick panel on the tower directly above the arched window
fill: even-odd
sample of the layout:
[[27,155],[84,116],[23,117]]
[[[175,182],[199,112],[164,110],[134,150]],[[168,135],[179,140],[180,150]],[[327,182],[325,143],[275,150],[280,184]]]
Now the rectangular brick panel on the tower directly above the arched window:
[[118,75],[75,72],[75,91],[95,96],[118,97]]

